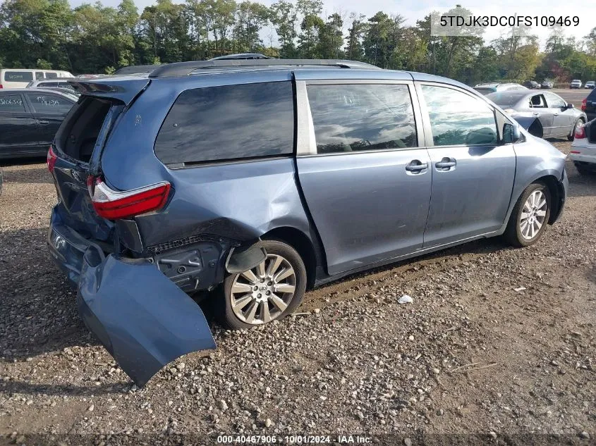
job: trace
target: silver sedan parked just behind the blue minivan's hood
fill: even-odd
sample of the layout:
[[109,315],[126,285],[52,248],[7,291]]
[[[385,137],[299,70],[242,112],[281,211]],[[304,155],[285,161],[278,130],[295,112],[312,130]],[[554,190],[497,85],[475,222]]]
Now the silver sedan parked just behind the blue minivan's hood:
[[507,91],[487,94],[513,119],[540,138],[566,137],[573,141],[577,125],[586,123],[585,113],[558,94],[535,91]]

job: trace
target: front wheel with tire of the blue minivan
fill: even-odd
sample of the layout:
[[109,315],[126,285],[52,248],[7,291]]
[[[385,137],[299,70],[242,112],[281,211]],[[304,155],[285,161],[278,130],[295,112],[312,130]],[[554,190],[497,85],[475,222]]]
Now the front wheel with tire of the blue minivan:
[[[535,206],[530,206],[528,200],[533,194],[535,198],[540,198],[540,200]],[[546,202],[546,209],[545,206],[540,205],[542,198]],[[545,232],[550,210],[551,196],[547,185],[542,182],[533,182],[525,188],[515,207],[513,207],[513,211],[511,211],[509,223],[507,223],[504,233],[505,240],[514,247],[528,247],[535,244],[542,237],[542,233]],[[522,221],[523,214],[525,214],[524,221]],[[532,218],[534,219],[532,220]],[[540,226],[538,227],[538,225]]]

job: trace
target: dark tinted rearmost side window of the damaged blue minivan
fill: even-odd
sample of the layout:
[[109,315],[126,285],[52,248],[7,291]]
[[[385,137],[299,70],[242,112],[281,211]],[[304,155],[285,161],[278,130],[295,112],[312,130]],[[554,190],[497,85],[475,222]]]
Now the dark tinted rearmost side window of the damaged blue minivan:
[[291,82],[225,85],[183,92],[166,116],[155,155],[164,164],[293,153]]

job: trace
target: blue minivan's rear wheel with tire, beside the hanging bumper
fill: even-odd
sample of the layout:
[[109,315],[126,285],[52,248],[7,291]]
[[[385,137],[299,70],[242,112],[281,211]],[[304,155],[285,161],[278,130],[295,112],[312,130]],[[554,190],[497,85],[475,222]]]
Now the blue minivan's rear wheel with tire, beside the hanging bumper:
[[[296,249],[281,240],[262,240],[257,246],[267,252],[264,265],[228,275],[221,287],[223,296],[218,299],[217,316],[226,328],[252,328],[279,320],[296,311],[304,298],[306,268]],[[284,276],[288,267],[293,273]]]

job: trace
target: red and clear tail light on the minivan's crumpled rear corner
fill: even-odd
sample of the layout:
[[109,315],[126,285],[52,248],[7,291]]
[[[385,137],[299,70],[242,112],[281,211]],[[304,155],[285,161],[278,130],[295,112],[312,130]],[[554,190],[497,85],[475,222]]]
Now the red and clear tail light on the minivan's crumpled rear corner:
[[97,215],[116,220],[138,216],[141,213],[162,209],[170,193],[169,182],[157,182],[138,189],[118,192],[111,190],[101,178],[87,179],[91,202]]

